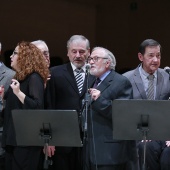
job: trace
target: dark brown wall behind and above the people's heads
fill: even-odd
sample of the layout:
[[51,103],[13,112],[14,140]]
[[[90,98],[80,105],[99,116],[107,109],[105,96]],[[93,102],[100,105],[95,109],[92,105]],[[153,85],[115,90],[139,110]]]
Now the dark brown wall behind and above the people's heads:
[[66,42],[82,34],[117,59],[117,71],[139,64],[139,44],[147,38],[163,48],[161,67],[170,66],[170,0],[0,0],[3,60],[21,40],[44,40],[52,65],[68,61]]

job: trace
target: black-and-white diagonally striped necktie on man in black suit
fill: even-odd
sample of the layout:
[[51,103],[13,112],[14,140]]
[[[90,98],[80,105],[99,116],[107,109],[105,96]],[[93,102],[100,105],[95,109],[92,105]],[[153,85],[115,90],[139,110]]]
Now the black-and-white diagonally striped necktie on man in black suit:
[[77,83],[77,87],[78,87],[78,90],[79,90],[79,93],[81,93],[82,89],[83,89],[83,75],[82,75],[82,69],[75,69],[75,72],[76,72],[76,76],[75,76],[75,79],[76,79],[76,83]]

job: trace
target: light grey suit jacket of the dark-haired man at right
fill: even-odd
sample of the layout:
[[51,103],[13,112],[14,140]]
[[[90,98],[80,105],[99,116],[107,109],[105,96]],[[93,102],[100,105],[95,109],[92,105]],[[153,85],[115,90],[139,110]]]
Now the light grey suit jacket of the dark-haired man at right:
[[[133,87],[134,99],[147,99],[144,85],[139,73],[139,67],[135,70],[123,74],[127,77]],[[169,74],[165,70],[158,68],[155,100],[168,100],[170,97],[170,80]]]

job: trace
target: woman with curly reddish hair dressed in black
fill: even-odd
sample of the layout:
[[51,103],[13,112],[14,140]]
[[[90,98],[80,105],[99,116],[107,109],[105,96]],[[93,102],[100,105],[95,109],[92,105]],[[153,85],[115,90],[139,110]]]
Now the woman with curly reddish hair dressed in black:
[[[49,70],[42,52],[30,42],[20,42],[11,55],[11,67],[16,71],[4,99],[4,130],[2,145],[6,150],[6,170],[37,170],[41,147],[17,146],[11,111],[13,109],[43,109],[44,85]],[[3,97],[3,88],[1,88]],[[30,125],[31,126],[31,125]]]

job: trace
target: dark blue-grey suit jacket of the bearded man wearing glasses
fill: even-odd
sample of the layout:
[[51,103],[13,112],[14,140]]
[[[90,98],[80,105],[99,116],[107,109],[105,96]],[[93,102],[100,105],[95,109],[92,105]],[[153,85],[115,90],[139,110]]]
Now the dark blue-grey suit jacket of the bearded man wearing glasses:
[[[90,161],[98,165],[115,165],[130,159],[129,153],[134,141],[113,140],[112,134],[112,101],[131,99],[132,86],[129,80],[114,70],[98,86],[101,96],[92,101],[88,114],[88,144]],[[93,143],[94,137],[94,143]],[[135,145],[134,145],[135,146]]]

